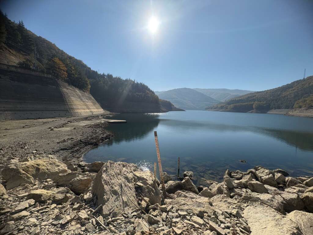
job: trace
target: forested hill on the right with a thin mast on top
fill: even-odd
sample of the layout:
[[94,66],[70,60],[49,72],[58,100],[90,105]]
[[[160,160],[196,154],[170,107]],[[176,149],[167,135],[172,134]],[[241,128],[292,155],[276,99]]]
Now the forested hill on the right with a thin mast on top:
[[313,76],[266,91],[249,93],[206,109],[224,109],[233,112],[269,109],[313,107]]

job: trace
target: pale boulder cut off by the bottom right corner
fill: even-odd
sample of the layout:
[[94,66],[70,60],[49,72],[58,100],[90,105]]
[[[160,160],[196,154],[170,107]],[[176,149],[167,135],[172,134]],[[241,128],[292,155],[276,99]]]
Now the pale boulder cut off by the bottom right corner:
[[304,211],[293,211],[286,215],[287,218],[297,223],[303,235],[313,233],[313,214]]

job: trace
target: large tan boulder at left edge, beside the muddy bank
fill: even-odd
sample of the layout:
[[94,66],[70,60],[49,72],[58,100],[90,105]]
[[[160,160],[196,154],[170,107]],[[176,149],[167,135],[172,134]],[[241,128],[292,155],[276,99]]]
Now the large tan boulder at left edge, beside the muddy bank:
[[36,159],[6,165],[1,171],[7,181],[7,189],[13,189],[21,184],[33,184],[36,180],[55,180],[59,174],[69,172],[67,166],[55,159]]

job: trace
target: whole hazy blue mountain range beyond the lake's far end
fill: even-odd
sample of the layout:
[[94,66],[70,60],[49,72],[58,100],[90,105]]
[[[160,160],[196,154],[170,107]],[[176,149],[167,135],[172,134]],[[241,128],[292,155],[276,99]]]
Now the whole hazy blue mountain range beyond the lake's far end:
[[169,91],[155,91],[160,99],[172,102],[176,107],[190,110],[204,110],[207,106],[254,91],[230,89],[178,88]]

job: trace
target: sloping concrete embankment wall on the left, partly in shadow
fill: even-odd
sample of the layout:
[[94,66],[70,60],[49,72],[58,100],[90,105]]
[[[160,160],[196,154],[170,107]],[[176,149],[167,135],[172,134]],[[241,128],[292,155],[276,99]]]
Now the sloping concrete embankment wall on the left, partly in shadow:
[[103,112],[90,93],[49,74],[0,64],[0,120],[86,116]]

